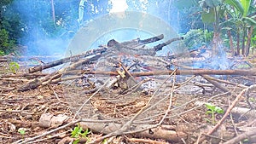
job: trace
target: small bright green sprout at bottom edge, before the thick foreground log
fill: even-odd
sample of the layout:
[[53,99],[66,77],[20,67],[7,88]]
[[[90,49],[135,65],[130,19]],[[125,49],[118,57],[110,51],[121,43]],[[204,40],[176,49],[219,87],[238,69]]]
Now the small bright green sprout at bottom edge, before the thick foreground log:
[[79,124],[74,127],[73,131],[71,132],[71,137],[76,138],[75,141],[73,141],[73,144],[79,143],[79,138],[84,137],[87,139],[87,141],[90,141],[90,139],[87,137],[87,135],[90,134],[90,130],[86,129],[83,130],[82,127],[79,126]]

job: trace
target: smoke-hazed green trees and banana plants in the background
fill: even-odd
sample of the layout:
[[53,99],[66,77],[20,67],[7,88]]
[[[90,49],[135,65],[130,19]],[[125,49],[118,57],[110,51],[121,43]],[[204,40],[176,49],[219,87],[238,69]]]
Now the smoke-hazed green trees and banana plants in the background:
[[[79,2],[2,0],[0,55],[25,51],[27,45],[37,47],[34,54],[40,54],[46,50],[39,49],[40,43],[55,45],[52,42],[60,39],[57,46],[65,43],[79,29]],[[85,20],[108,12],[108,1],[88,0],[85,5]],[[170,7],[177,9],[179,33],[187,34],[189,49],[201,44],[212,44],[214,49],[221,41],[232,55],[248,55],[256,48],[255,5],[256,0],[178,0],[172,1]],[[101,12],[96,13],[96,9]]]

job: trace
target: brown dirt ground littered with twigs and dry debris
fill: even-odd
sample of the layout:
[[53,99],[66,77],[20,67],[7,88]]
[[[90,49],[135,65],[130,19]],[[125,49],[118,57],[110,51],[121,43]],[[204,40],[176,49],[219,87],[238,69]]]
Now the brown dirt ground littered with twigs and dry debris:
[[[252,60],[251,63],[255,66]],[[0,76],[0,143],[25,141],[24,143],[49,144],[72,143],[76,140],[79,143],[96,140],[100,140],[96,143],[221,143],[256,130],[255,111],[247,112],[250,110],[249,104],[254,107],[256,100],[256,90],[247,91],[249,86],[255,84],[254,76],[213,77],[219,80],[216,82],[222,87],[230,89],[231,93],[216,88],[201,76],[193,75],[172,76],[159,87],[152,87],[150,84],[154,83],[145,82],[143,89],[130,92],[125,92],[119,86],[96,89],[99,88],[97,85],[85,82],[84,78],[19,91],[3,89],[25,85],[33,78],[18,77],[19,73],[24,73],[23,70],[13,74],[6,69],[7,66],[7,63],[2,63]],[[43,76],[35,78],[40,77]],[[148,78],[163,82],[167,76]],[[248,98],[244,92],[249,93]],[[236,100],[238,97],[239,101]],[[79,109],[84,101],[89,102]],[[211,112],[207,113],[206,102],[224,112],[214,112],[213,115]],[[233,103],[235,107],[224,118]],[[244,111],[241,112],[241,109]],[[47,125],[57,123],[49,118],[44,121],[46,125],[43,126],[40,118],[45,117],[45,114],[49,114],[50,118],[61,116],[64,119],[60,118],[61,122],[58,124]],[[72,124],[73,118],[86,118],[87,121],[80,122],[79,126],[83,129],[81,133],[86,130],[90,130],[90,133],[72,136],[74,129],[78,127],[78,124]],[[134,120],[131,121],[132,118]],[[222,118],[224,122],[218,125]],[[98,120],[102,121],[97,122]],[[132,124],[121,131],[125,122]],[[115,124],[116,128],[111,124]],[[148,125],[152,128],[144,129],[143,133],[143,127]],[[208,134],[216,125],[218,129]],[[57,130],[58,128],[61,129]],[[119,133],[113,133],[115,129]],[[103,137],[109,133],[113,135]],[[241,138],[241,143],[255,141],[253,135]]]

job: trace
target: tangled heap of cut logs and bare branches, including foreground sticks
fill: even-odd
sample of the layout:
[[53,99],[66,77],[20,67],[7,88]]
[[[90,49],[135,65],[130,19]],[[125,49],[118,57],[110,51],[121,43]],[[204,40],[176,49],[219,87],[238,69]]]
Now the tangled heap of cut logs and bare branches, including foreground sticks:
[[[216,124],[216,126],[212,130],[209,130],[207,132],[207,135],[211,135],[213,131],[218,129],[219,125],[221,125],[224,122],[224,119],[227,118],[231,110],[236,106],[236,103],[241,99],[243,95],[247,96],[248,106],[253,108],[253,106],[250,104],[248,99],[249,99],[249,93],[256,88],[255,85],[250,84],[250,86],[247,86],[245,84],[236,84],[230,81],[213,78],[210,75],[245,76],[249,78],[254,78],[254,76],[256,75],[255,70],[253,69],[212,70],[212,69],[194,69],[186,66],[181,66],[179,65],[180,63],[177,64],[173,62],[173,61],[177,61],[175,59],[180,55],[168,55],[165,58],[156,57],[155,55],[156,55],[156,52],[161,50],[164,46],[172,42],[182,40],[183,39],[182,37],[172,38],[168,40],[166,43],[160,43],[154,46],[153,48],[149,48],[149,49],[145,46],[145,44],[147,43],[154,43],[156,41],[160,41],[161,39],[163,39],[163,37],[164,37],[163,35],[160,35],[157,37],[150,37],[144,40],[137,38],[128,42],[123,42],[123,43],[119,43],[115,40],[110,40],[107,45],[102,45],[99,49],[91,49],[89,51],[84,52],[83,54],[73,55],[60,60],[54,60],[49,63],[42,62],[41,65],[32,66],[28,68],[27,72],[21,72],[21,73],[17,72],[13,74],[1,75],[0,79],[2,82],[0,86],[0,91],[2,93],[9,93],[11,91],[26,91],[30,89],[37,89],[38,87],[42,87],[49,84],[65,84],[65,82],[70,82],[71,80],[88,78],[89,75],[105,76],[105,77],[115,76],[114,80],[108,80],[106,82],[104,82],[105,79],[104,80],[96,79],[96,82],[94,83],[90,83],[87,81],[87,83],[90,84],[92,89],[88,89],[86,91],[86,94],[92,94],[92,95],[84,99],[83,103],[81,103],[75,109],[73,120],[70,123],[66,125],[62,125],[61,127],[58,127],[55,130],[50,130],[49,132],[44,133],[43,135],[38,135],[30,139],[26,139],[21,143],[34,141],[35,139],[43,137],[44,135],[49,135],[55,132],[56,130],[61,130],[71,124],[77,124],[81,122],[84,122],[85,125],[89,127],[91,130],[95,130],[97,132],[102,132],[106,134],[96,139],[95,141],[91,141],[90,143],[96,143],[108,137],[112,137],[114,135],[124,135],[124,134],[134,134],[134,133],[139,133],[140,135],[144,135],[147,137],[166,139],[167,141],[177,142],[177,141],[185,140],[188,138],[189,135],[187,135],[184,130],[179,131],[179,130],[175,130],[175,128],[173,127],[169,128],[168,126],[163,125],[163,122],[168,117],[169,112],[172,111],[173,93],[177,89],[181,88],[183,85],[190,83],[191,80],[196,76],[200,76],[201,78],[204,78],[205,80],[207,80],[207,82],[212,84],[213,87],[219,89],[220,91],[223,91],[224,95],[236,95],[232,89],[232,87],[234,86],[240,89],[243,89],[238,95],[236,95],[236,99],[231,103],[230,107],[227,108],[226,113],[224,114],[224,117],[218,122],[218,124]],[[188,53],[191,53],[191,52],[188,52]],[[125,55],[125,58],[124,58],[124,55]],[[139,66],[139,64],[142,65],[142,63],[140,63],[140,61],[134,60],[131,63],[129,63],[130,66],[127,66],[127,64],[125,64],[125,61],[124,61],[127,58],[127,55],[128,57],[136,55],[137,60],[154,61],[155,62],[153,64],[154,66],[150,67],[152,63],[149,62],[148,64],[149,68],[148,68],[148,65],[140,66],[141,67],[140,69],[143,69],[143,71],[136,71],[137,66]],[[8,61],[5,59],[5,57],[2,57],[0,60],[3,60],[4,62]],[[102,62],[104,62],[104,66],[107,66],[107,68],[104,66],[101,66]],[[43,72],[45,69],[48,69],[54,66],[59,66],[62,64],[66,64],[66,65],[55,72],[50,72],[50,73]],[[183,68],[170,69],[170,67],[172,66],[183,67]],[[189,78],[189,80],[186,80],[182,84],[175,84],[176,82],[175,76],[177,75],[186,75],[191,78]],[[152,124],[153,121],[150,121],[150,123],[148,124],[140,124],[142,122],[139,122],[136,120],[137,118],[142,117],[143,113],[147,112],[148,109],[150,108],[152,109],[152,107],[155,107],[157,105],[157,101],[160,102],[159,97],[154,100],[154,98],[157,97],[156,94],[159,91],[159,89],[155,89],[154,94],[151,95],[148,102],[146,102],[146,104],[144,104],[143,107],[141,107],[141,109],[139,109],[136,113],[131,114],[125,120],[124,119],[123,120],[121,119],[99,120],[99,118],[88,119],[80,115],[80,113],[84,109],[84,106],[88,104],[88,101],[90,101],[96,94],[98,94],[99,91],[106,88],[107,85],[110,85],[108,89],[110,88],[116,89],[116,87],[118,89],[122,89],[122,91],[119,93],[120,95],[125,95],[125,96],[127,96],[127,94],[132,95],[137,90],[142,90],[141,89],[142,84],[148,81],[147,79],[146,80],[143,79],[141,82],[137,82],[136,78],[148,77],[148,76],[167,76],[166,80],[161,80],[160,82],[161,85],[166,84],[167,80],[170,80],[170,78],[171,79],[173,78],[172,83],[170,84],[171,86],[170,95],[166,96],[165,98],[162,98],[162,100],[168,100],[165,103],[166,107],[163,111],[159,113],[160,118],[158,117],[159,119],[158,121],[156,120],[157,118],[156,119],[154,118],[154,124]],[[109,81],[111,81],[110,84],[109,84]],[[133,83],[129,83],[130,81]],[[100,87],[96,86],[96,83],[102,84],[102,86]],[[76,84],[78,84],[78,81],[76,81]],[[207,87],[206,84],[199,84],[199,83],[194,83],[194,84],[201,87],[202,89],[204,89],[204,87]],[[212,87],[212,85],[210,87]],[[227,87],[226,85],[230,85],[231,87]],[[187,105],[187,104],[188,103],[184,105]],[[47,116],[42,115],[43,119],[44,117],[47,117]],[[51,118],[53,117],[51,116]],[[144,121],[147,121],[147,120],[152,120],[152,119],[150,118],[144,119]],[[164,135],[164,134],[167,134],[167,135]],[[249,135],[255,135],[255,134],[250,133]],[[203,141],[204,139],[206,139],[205,136],[201,136],[201,137],[199,136],[198,141]],[[235,141],[235,140],[232,139],[230,141]]]

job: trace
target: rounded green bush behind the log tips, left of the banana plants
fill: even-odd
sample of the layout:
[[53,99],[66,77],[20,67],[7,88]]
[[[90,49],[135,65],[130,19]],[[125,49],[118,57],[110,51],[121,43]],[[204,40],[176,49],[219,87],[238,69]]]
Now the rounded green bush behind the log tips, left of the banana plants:
[[189,49],[195,49],[212,41],[213,32],[201,29],[190,30],[184,36],[184,43]]

